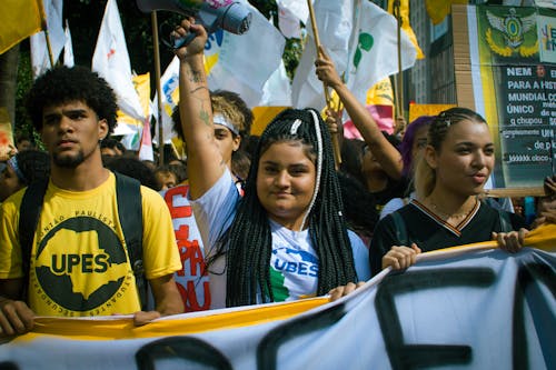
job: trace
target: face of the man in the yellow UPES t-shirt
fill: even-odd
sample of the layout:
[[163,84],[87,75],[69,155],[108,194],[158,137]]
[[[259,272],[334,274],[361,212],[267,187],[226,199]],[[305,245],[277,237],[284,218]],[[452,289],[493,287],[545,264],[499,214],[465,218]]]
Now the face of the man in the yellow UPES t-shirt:
[[108,134],[108,123],[85,102],[72,101],[46,107],[41,139],[53,166],[77,168],[99,151],[99,140]]

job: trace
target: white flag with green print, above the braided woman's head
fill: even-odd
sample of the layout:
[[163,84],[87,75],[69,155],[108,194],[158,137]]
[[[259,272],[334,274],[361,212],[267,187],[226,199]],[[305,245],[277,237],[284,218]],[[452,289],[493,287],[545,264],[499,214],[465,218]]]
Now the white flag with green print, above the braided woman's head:
[[[390,74],[398,72],[396,19],[366,0],[315,1],[315,18],[320,43],[345,76],[345,81],[357,99],[365,103],[367,90]],[[309,29],[301,60],[292,82],[295,107],[326,106],[322,82],[315,74],[316,47]],[[401,32],[403,69],[415,64],[417,52],[409,38]]]

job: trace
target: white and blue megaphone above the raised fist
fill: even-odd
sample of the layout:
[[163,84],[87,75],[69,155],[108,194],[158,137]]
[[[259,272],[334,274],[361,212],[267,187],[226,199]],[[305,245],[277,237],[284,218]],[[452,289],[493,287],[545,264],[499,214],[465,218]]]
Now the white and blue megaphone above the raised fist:
[[[193,17],[197,23],[202,24],[208,33],[218,29],[241,34],[249,30],[251,12],[242,3],[231,0],[137,0],[137,7],[145,13],[167,10],[186,17]],[[195,34],[185,39],[173,40],[173,48],[180,48],[191,41]]]

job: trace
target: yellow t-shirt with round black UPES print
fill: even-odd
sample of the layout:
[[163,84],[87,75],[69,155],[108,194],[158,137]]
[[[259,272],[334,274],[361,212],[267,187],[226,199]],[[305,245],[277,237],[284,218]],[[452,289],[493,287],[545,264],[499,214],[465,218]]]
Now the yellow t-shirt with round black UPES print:
[[[0,207],[0,279],[23,277],[19,207],[24,191]],[[148,280],[181,269],[168,208],[141,187],[143,267]],[[123,214],[120,217],[125,217]],[[39,316],[107,316],[140,310],[118,218],[116,177],[82,192],[51,182],[34,233],[28,304]]]

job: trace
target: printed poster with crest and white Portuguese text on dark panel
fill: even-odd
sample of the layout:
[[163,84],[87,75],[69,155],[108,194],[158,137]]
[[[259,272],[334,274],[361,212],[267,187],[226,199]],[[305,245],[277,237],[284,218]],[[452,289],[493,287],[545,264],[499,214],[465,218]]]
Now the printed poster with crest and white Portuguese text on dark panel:
[[479,6],[476,19],[475,97],[496,144],[494,187],[540,187],[556,169],[556,11]]

